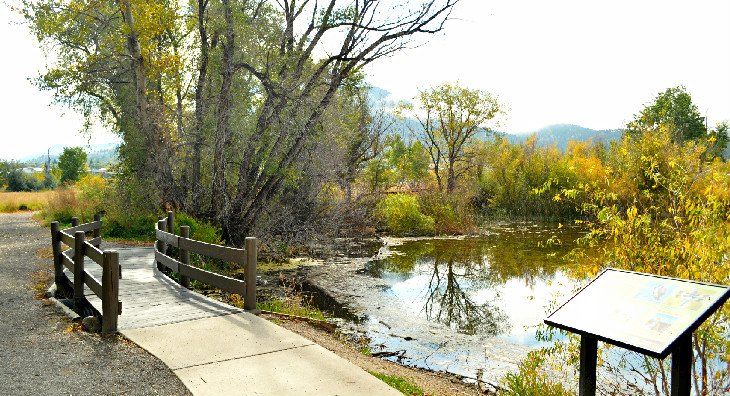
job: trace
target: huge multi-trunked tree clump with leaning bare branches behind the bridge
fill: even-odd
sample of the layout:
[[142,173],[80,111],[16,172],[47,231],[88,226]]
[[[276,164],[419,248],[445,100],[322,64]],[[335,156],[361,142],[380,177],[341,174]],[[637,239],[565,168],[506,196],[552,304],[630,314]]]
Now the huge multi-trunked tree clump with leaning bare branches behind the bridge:
[[[146,210],[215,219],[239,244],[321,157],[348,81],[441,31],[457,2],[24,0],[21,12],[57,59],[38,85],[122,138],[117,185],[155,193]],[[378,143],[361,126],[345,183]]]

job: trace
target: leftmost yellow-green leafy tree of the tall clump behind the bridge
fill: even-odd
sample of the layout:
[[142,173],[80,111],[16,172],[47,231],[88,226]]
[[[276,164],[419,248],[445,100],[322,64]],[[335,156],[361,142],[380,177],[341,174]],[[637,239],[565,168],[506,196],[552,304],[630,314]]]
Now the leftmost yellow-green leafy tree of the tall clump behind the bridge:
[[161,206],[180,206],[172,164],[180,137],[172,120],[182,102],[173,92],[181,86],[175,44],[185,25],[173,4],[28,0],[21,12],[56,57],[39,87],[80,111],[87,126],[101,120],[119,134],[123,181],[149,181]]

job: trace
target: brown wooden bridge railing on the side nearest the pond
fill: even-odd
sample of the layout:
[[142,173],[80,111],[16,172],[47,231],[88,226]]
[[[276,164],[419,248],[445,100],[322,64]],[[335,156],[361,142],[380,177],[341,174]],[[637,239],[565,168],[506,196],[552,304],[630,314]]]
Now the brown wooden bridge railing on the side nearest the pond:
[[[162,266],[180,274],[180,284],[190,288],[190,279],[206,283],[229,293],[244,297],[243,308],[249,311],[256,310],[256,265],[257,240],[246,238],[245,249],[236,249],[227,246],[190,239],[190,228],[180,227],[180,235],[175,235],[173,212],[167,212],[167,218],[157,222],[155,261],[157,268]],[[175,247],[179,251],[179,260],[167,254],[168,247]],[[244,266],[244,281],[234,279],[214,272],[206,271],[190,265],[190,253],[212,257],[223,261],[238,263]]]

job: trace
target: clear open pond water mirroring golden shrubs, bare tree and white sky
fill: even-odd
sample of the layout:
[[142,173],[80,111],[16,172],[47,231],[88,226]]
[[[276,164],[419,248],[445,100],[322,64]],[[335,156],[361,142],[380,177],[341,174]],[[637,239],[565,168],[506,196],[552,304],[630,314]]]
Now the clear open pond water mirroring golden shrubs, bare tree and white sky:
[[[526,328],[541,322],[553,280],[564,279],[558,271],[572,248],[567,241],[579,232],[503,227],[479,238],[406,241],[367,271],[387,280],[396,302],[427,321],[530,344],[534,330]],[[544,246],[550,238],[563,243]]]

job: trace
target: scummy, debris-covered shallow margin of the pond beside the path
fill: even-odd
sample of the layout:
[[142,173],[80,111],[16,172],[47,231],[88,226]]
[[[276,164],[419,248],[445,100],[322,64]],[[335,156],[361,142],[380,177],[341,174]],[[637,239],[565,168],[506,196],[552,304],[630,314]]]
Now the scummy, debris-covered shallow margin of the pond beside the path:
[[[463,240],[468,237],[441,239]],[[433,238],[418,238],[433,239]],[[369,353],[407,367],[446,373],[482,389],[496,391],[503,376],[516,369],[530,348],[488,335],[460,334],[418,315],[404,317],[388,296],[390,285],[369,274],[369,266],[415,238],[381,237],[368,241],[339,241],[335,253],[316,259],[297,259],[292,268],[276,266],[261,273],[269,296],[281,293],[276,282],[295,284],[317,308],[333,314],[341,336],[354,345],[367,345]],[[355,247],[355,249],[348,249]],[[275,289],[275,288],[274,288]]]

